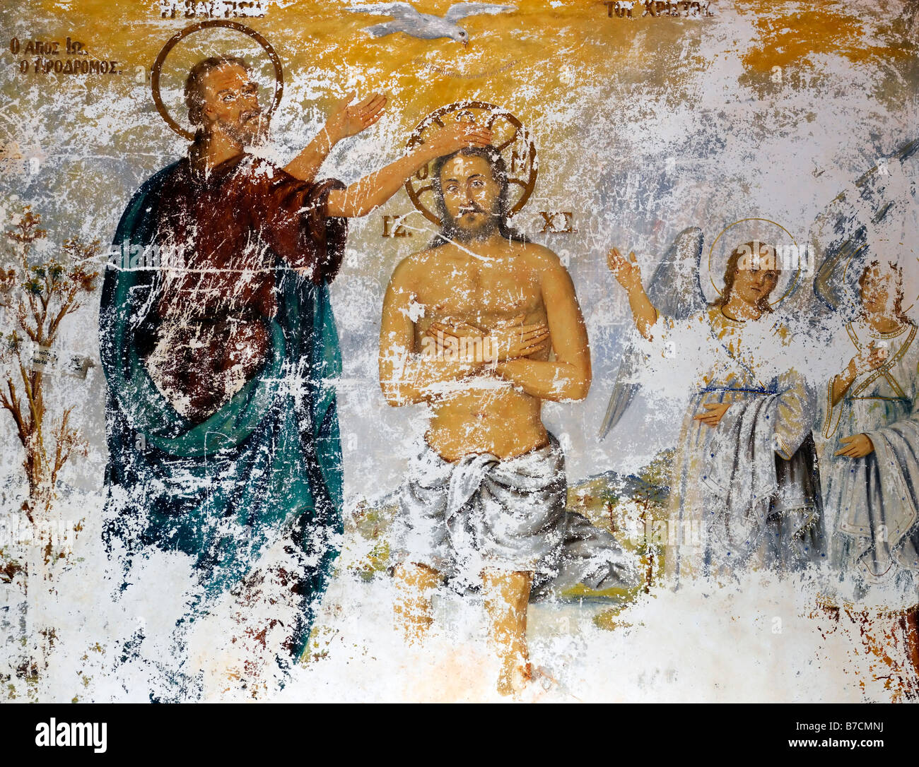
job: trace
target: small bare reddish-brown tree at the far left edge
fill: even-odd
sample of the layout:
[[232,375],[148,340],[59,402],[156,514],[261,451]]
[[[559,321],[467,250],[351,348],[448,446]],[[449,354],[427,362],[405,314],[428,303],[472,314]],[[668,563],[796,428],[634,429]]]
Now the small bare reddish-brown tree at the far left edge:
[[44,400],[44,363],[61,332],[64,319],[80,309],[81,299],[96,288],[93,270],[99,242],[63,243],[60,259],[36,258],[35,246],[48,232],[41,217],[26,206],[6,230],[7,253],[12,268],[0,270],[0,291],[13,330],[4,334],[0,359],[0,406],[13,419],[25,451],[23,468],[28,479],[28,501],[23,504],[28,521],[47,512],[54,502],[58,474],[74,453],[85,456],[85,441],[70,425],[72,408],[47,424]]

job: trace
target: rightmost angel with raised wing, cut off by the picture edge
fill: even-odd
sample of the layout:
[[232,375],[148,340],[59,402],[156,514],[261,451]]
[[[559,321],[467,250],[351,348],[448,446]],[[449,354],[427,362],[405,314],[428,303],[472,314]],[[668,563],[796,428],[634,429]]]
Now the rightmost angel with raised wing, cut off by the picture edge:
[[[834,311],[823,389],[832,581],[822,606],[919,696],[919,339],[903,309],[919,235],[919,140],[868,170],[814,222],[814,293]],[[832,367],[831,367],[832,366]]]

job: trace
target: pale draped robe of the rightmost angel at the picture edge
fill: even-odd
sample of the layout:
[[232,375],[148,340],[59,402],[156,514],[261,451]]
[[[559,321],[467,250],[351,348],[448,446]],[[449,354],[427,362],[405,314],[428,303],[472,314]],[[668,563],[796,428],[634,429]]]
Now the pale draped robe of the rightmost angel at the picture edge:
[[[860,374],[835,405],[827,384],[824,455],[828,463],[827,510],[834,516],[831,564],[844,599],[891,609],[919,603],[919,342],[912,323],[877,333],[848,322],[835,349],[835,364],[868,344],[886,344],[887,361]],[[867,434],[867,456],[835,456],[841,440]]]

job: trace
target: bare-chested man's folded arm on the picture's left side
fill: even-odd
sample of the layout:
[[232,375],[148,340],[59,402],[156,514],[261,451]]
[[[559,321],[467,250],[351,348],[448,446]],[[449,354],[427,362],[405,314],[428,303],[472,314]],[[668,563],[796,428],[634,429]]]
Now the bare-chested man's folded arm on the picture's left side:
[[404,261],[396,267],[383,299],[380,389],[393,407],[432,400],[444,384],[466,378],[482,368],[478,361],[451,361],[414,348],[411,270],[411,265]]

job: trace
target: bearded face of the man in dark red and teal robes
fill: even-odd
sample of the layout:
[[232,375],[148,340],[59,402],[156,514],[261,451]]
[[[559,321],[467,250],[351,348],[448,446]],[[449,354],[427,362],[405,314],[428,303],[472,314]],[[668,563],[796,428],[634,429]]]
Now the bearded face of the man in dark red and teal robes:
[[264,141],[268,116],[258,104],[258,85],[244,67],[227,63],[205,75],[202,84],[205,124],[219,126],[244,146]]

